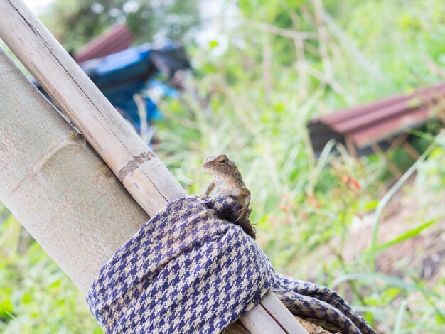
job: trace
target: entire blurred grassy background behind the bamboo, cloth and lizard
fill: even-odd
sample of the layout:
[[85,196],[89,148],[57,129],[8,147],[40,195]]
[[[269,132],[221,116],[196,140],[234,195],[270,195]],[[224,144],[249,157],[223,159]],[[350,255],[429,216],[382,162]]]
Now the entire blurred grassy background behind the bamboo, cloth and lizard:
[[[237,163],[276,271],[444,333],[444,1],[26,2],[188,193],[206,156]],[[102,333],[0,218],[0,331]]]

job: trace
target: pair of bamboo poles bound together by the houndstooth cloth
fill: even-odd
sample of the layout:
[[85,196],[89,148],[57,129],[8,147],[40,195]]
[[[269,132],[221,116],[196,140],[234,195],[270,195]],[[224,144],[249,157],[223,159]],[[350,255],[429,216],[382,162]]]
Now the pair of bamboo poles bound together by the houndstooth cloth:
[[[0,200],[86,294],[139,226],[186,192],[23,2],[0,1],[0,13],[0,38],[82,134],[0,52]],[[272,292],[240,322],[228,331],[307,333]]]

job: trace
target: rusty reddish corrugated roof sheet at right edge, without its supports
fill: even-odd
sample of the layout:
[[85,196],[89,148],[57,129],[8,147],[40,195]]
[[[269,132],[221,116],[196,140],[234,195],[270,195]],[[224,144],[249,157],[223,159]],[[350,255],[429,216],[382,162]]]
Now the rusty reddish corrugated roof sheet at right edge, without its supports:
[[445,98],[445,83],[422,88],[359,107],[312,119],[307,125],[314,151],[320,152],[331,139],[365,149],[427,122],[429,113]]

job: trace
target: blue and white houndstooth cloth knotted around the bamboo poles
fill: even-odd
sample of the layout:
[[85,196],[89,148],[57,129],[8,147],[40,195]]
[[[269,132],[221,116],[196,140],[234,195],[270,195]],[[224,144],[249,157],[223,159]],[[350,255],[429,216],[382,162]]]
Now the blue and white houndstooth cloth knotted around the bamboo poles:
[[232,223],[240,208],[230,197],[180,198],[146,222],[88,293],[106,333],[220,333],[270,289],[296,315],[343,333],[375,333],[335,292],[274,274]]

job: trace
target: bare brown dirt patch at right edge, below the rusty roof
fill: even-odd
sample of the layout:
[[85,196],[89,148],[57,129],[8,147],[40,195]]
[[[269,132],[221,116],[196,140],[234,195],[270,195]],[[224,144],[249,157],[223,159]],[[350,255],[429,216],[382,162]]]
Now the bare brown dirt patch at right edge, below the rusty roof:
[[[416,237],[379,252],[376,268],[383,274],[400,278],[409,271],[434,284],[445,275],[445,191],[419,193],[417,188],[413,181],[409,181],[388,203],[383,211],[377,244],[388,242],[430,220],[439,220]],[[375,214],[356,217],[343,249],[345,262],[352,261],[356,254],[370,247],[374,223]]]

